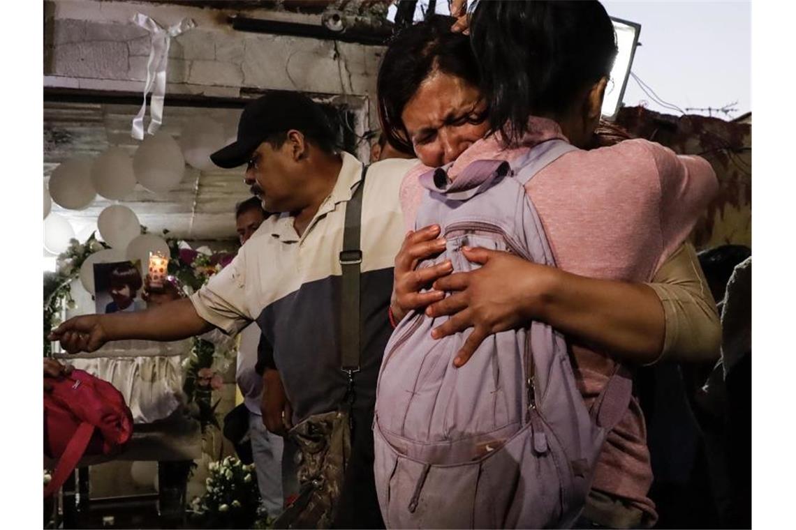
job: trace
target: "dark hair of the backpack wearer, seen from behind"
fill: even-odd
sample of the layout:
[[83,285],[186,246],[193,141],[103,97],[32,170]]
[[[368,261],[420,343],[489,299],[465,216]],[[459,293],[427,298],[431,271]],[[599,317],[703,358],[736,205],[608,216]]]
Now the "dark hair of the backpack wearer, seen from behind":
[[479,1],[470,41],[491,130],[519,140],[533,115],[560,115],[579,91],[611,74],[614,25],[596,0]]

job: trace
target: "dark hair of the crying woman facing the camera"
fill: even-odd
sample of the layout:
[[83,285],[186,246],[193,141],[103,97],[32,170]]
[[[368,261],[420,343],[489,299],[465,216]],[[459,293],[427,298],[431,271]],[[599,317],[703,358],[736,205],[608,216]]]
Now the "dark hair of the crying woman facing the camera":
[[433,72],[454,75],[478,87],[470,39],[451,32],[453,17],[432,15],[396,33],[381,60],[377,98],[381,130],[396,149],[414,153],[401,114],[420,83]]

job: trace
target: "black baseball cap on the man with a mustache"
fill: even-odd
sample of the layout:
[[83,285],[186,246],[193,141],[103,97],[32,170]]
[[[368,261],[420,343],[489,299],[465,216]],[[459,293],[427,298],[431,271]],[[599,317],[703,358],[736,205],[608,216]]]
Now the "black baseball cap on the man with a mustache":
[[267,137],[291,129],[334,140],[329,118],[318,103],[301,92],[273,91],[245,106],[237,140],[210,155],[210,160],[220,168],[236,168],[246,164]]

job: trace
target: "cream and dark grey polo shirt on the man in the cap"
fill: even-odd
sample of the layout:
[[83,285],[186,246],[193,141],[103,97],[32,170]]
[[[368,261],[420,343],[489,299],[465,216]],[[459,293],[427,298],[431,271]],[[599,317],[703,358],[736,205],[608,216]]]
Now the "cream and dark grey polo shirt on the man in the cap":
[[[191,296],[202,319],[228,334],[256,320],[293,407],[294,423],[330,412],[345,394],[340,369],[341,266],[345,204],[362,164],[342,153],[334,190],[302,236],[289,214],[266,219],[236,258]],[[404,240],[398,190],[417,161],[388,159],[368,169],[362,197],[361,370],[354,407],[372,411],[384,346],[392,268]]]

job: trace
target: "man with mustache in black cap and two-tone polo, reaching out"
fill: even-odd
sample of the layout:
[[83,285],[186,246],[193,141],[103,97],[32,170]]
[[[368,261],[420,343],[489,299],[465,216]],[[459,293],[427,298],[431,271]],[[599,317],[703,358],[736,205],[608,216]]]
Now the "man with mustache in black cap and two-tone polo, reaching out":
[[235,334],[256,320],[291,404],[285,423],[335,411],[349,383],[340,352],[345,210],[362,185],[360,369],[353,373],[352,450],[334,526],[375,528],[383,523],[373,484],[373,404],[392,333],[392,267],[404,239],[398,191],[416,161],[373,164],[363,181],[361,162],[338,152],[335,138],[322,109],[303,95],[273,92],[250,103],[237,140],[211,158],[224,168],[247,164],[246,183],[279,215],[189,299],[131,315],[76,317],[51,339],[70,352],[93,351],[109,340],[176,340],[213,327]]

